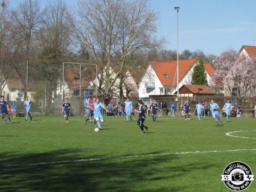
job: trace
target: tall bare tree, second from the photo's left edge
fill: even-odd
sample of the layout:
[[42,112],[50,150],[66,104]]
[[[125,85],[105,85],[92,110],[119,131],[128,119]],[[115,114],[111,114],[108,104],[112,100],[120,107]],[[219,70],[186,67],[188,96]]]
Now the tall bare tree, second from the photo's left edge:
[[[37,44],[36,34],[41,26],[44,10],[40,9],[38,0],[24,0],[22,3],[19,3],[17,9],[13,10],[12,14],[14,17],[13,33],[15,34],[17,49],[16,56],[19,57],[16,62],[13,62],[12,66],[26,87],[25,64],[26,61],[32,60],[35,57],[33,50],[36,50],[34,48]],[[26,94],[25,92],[25,96]]]

